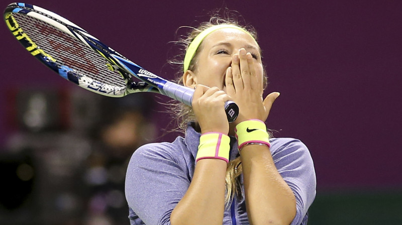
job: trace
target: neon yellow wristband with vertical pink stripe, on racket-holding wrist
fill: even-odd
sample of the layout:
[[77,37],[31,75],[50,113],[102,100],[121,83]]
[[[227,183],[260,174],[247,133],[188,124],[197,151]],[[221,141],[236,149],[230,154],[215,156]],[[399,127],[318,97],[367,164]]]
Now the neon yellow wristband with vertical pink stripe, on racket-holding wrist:
[[209,132],[199,138],[198,152],[195,161],[200,159],[221,159],[229,162],[230,138],[227,135]]

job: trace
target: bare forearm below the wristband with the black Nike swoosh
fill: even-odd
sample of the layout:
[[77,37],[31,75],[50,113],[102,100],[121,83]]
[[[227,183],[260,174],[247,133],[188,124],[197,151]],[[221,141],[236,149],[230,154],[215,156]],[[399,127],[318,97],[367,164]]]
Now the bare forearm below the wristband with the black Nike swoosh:
[[290,224],[296,213],[295,197],[268,147],[245,146],[240,155],[250,224]]

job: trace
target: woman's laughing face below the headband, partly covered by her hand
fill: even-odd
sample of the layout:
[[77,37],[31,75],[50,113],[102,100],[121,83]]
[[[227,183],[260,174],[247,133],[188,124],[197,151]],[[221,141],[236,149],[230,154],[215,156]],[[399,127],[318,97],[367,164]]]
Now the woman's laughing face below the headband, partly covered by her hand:
[[[203,84],[216,86],[226,92],[225,76],[228,67],[232,66],[233,55],[239,55],[244,48],[253,56],[258,82],[263,86],[263,67],[260,48],[249,34],[232,28],[219,29],[209,34],[200,45],[201,51],[196,55],[193,85]],[[240,71],[242,68],[240,68]],[[190,84],[187,83],[187,86]]]

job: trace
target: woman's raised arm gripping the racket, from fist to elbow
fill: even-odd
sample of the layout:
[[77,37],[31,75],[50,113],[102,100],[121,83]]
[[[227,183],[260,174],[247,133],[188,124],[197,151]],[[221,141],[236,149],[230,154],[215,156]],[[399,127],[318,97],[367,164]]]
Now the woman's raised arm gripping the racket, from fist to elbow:
[[[172,225],[222,224],[223,222],[227,161],[222,157],[229,157],[230,148],[229,141],[223,143],[222,137],[226,136],[229,140],[227,136],[229,124],[223,110],[224,102],[227,100],[230,100],[230,97],[217,87],[208,88],[197,85],[195,88],[192,102],[194,114],[203,136],[210,134],[213,140],[200,142],[194,176],[188,190],[172,212],[170,217]],[[215,136],[218,140],[215,140]],[[216,142],[216,151],[223,153],[222,157],[200,156],[202,154],[200,151],[203,151],[201,146],[211,142],[214,145]],[[215,149],[213,150],[215,154]]]

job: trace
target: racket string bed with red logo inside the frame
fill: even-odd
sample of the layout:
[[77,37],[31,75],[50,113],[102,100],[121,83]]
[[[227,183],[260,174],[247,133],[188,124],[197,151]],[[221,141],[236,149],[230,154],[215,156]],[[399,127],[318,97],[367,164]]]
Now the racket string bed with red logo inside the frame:
[[90,47],[41,20],[21,14],[13,16],[24,33],[56,59],[58,65],[69,67],[82,79],[90,77],[96,82],[126,87],[120,73],[108,69],[106,64],[109,62]]

